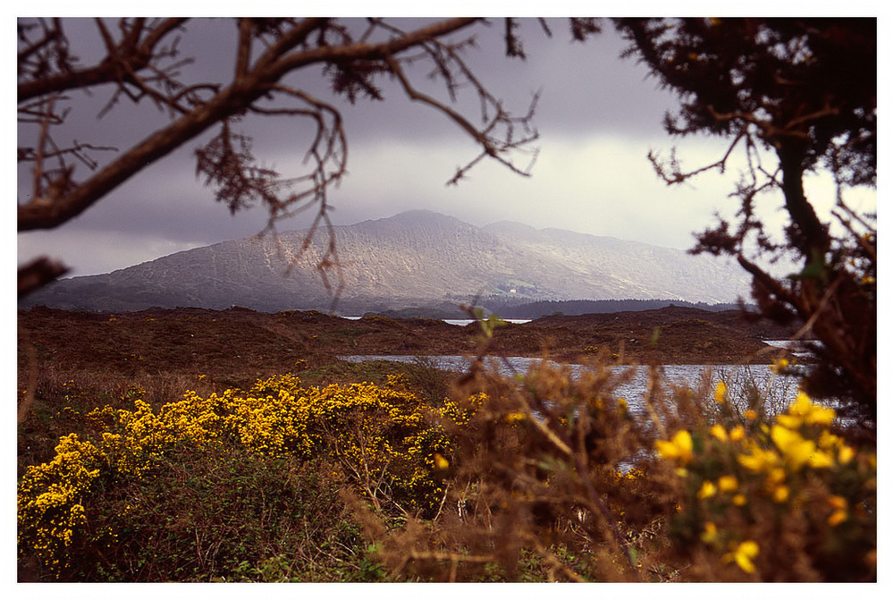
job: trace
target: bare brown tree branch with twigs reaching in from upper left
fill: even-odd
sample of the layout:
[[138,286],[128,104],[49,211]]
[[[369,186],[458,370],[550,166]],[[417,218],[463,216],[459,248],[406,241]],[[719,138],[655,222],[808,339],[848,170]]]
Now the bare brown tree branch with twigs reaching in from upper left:
[[[240,19],[236,21],[232,80],[225,83],[181,79],[178,69],[190,59],[178,58],[179,38],[174,34],[185,32],[188,21],[122,19],[115,33],[106,21],[97,19],[105,58],[86,67],[81,67],[69,52],[63,21],[39,20],[20,25],[20,123],[37,123],[39,130],[37,145],[21,146],[18,152],[20,162],[33,164],[32,193],[28,201],[18,206],[19,231],[51,229],[68,222],[136,173],[219,125],[222,129],[218,136],[197,152],[198,173],[215,185],[217,199],[231,210],[256,203],[266,207],[270,218],[264,232],[275,233],[274,225],[279,219],[316,207],[317,215],[302,251],[306,250],[317,227],[325,226],[333,234],[326,190],[347,173],[347,136],[338,109],[304,90],[283,84],[286,76],[311,65],[324,66],[326,74],[333,78],[333,92],[351,102],[358,94],[381,98],[375,77],[391,73],[408,97],[458,125],[481,148],[481,154],[460,168],[451,182],[459,181],[484,158],[496,160],[513,173],[529,174],[530,164],[519,167],[510,154],[530,152],[527,146],[537,139],[530,126],[537,98],[526,115],[513,117],[460,57],[460,50],[468,47],[471,40],[442,41],[483,22],[480,19],[434,21],[409,31],[381,19],[370,19],[358,38],[334,19]],[[35,31],[38,36],[32,40]],[[387,38],[374,42],[381,38],[377,34],[382,33]],[[256,45],[262,44],[263,51],[253,57]],[[403,64],[422,60],[432,63],[441,73],[451,102],[457,99],[460,85],[471,86],[485,117],[480,127],[453,106],[417,90]],[[97,151],[109,149],[107,146],[76,141],[56,144],[50,128],[63,124],[67,117],[67,112],[56,109],[56,103],[69,101],[61,94],[105,84],[113,86],[113,93],[100,116],[122,100],[136,105],[148,98],[169,114],[171,122],[107,161],[95,157]],[[232,129],[243,114],[301,117],[316,123],[316,133],[308,140],[306,149],[308,171],[283,175],[256,165],[249,138]],[[519,129],[521,135],[517,133]],[[533,164],[536,152],[531,154]],[[47,162],[50,160],[56,161],[52,169]],[[75,163],[88,166],[93,173],[76,179]],[[324,273],[339,268],[333,240],[319,266]]]

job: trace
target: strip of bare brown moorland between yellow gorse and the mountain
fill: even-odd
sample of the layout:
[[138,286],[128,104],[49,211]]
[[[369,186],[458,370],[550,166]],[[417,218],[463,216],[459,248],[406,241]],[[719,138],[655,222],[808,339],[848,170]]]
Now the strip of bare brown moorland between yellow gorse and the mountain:
[[[296,359],[325,364],[351,354],[463,355],[475,352],[477,344],[475,325],[247,308],[131,313],[33,308],[20,311],[19,328],[35,344],[41,363],[72,368],[101,364],[122,373],[266,376],[293,368]],[[563,362],[607,351],[626,364],[768,364],[776,354],[762,340],[788,339],[795,331],[767,319],[746,320],[736,310],[669,307],[507,324],[493,351],[528,357],[546,351]]]

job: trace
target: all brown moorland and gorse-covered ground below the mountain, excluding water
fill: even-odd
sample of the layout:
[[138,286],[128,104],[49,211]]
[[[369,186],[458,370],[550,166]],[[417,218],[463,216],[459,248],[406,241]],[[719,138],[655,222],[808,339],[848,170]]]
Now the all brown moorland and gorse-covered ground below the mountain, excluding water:
[[[603,368],[767,361],[784,333],[683,308],[492,329],[21,312],[19,579],[873,580],[874,443],[833,410],[656,371],[639,414]],[[551,347],[594,370],[425,359]]]

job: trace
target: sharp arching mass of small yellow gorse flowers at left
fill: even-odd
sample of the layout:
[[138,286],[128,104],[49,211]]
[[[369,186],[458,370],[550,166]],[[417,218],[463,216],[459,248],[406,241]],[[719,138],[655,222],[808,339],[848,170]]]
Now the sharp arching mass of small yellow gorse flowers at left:
[[[148,477],[165,452],[235,444],[270,457],[327,456],[377,509],[431,514],[442,500],[437,472],[451,441],[437,418],[468,419],[454,404],[428,410],[389,385],[303,388],[295,376],[258,381],[249,393],[228,389],[207,398],[186,392],[157,412],[134,400],[133,410],[93,410],[102,429],[95,443],[66,435],[52,461],[27,469],[18,488],[20,554],[33,554],[55,575],[67,568],[72,539],[87,536],[85,504],[98,479]],[[456,422],[456,421],[454,421]]]

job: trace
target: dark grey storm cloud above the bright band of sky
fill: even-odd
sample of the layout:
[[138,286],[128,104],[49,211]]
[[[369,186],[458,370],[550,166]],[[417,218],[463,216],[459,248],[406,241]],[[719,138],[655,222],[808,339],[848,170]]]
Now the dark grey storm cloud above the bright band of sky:
[[[425,22],[426,19],[396,19],[401,28],[411,29]],[[351,27],[359,29],[362,20],[349,20]],[[643,119],[629,119],[630,114],[639,114],[636,103],[631,103],[629,94],[620,93],[616,83],[618,74],[633,72],[630,63],[622,64],[617,59],[620,51],[619,40],[611,32],[611,26],[605,21],[606,32],[587,44],[569,42],[567,25],[563,20],[549,21],[552,38],[548,38],[536,20],[521,21],[520,33],[524,39],[527,60],[510,59],[504,55],[502,42],[502,23],[493,20],[490,26],[478,27],[474,31],[477,47],[470,48],[465,54],[469,65],[477,72],[488,89],[495,96],[505,98],[506,105],[516,114],[527,111],[532,94],[540,89],[543,96],[536,115],[536,125],[542,131],[580,133],[587,130],[613,131],[620,128],[620,123],[643,123]],[[66,23],[72,39],[72,50],[80,56],[83,63],[91,63],[97,59],[102,46],[97,36],[97,28],[91,19],[80,18],[68,20]],[[232,61],[235,55],[233,46],[235,26],[226,19],[199,19],[189,23],[182,35],[180,49],[182,57],[193,57],[195,62],[181,67],[182,76],[192,82],[225,78],[232,72]],[[465,37],[461,33],[456,38]],[[606,41],[607,40],[607,41]],[[426,66],[426,69],[428,67]],[[427,86],[425,72],[415,70],[416,80],[426,91],[445,97],[443,86]],[[637,81],[642,73],[634,76]],[[622,78],[628,85],[631,77]],[[312,68],[291,78],[291,83],[307,89],[311,94],[333,102],[338,106],[345,118],[345,128],[349,135],[350,158],[361,161],[364,146],[367,142],[393,139],[422,139],[426,144],[438,144],[439,139],[453,142],[465,141],[464,134],[457,130],[453,123],[436,114],[426,106],[419,106],[409,101],[402,90],[392,81],[382,79],[380,84],[386,100],[378,102],[360,99],[351,106],[342,98],[333,97],[326,81],[320,76],[319,69]],[[88,94],[80,91],[72,93],[72,116],[63,128],[55,135],[62,141],[77,140],[104,147],[115,147],[122,150],[129,148],[135,140],[142,139],[156,128],[168,122],[167,115],[157,110],[148,100],[139,106],[127,106],[122,99],[113,110],[98,117],[100,109],[106,105],[112,95],[112,89],[105,87],[95,89]],[[637,96],[638,97],[638,96]],[[652,100],[642,94],[646,102]],[[652,100],[654,102],[654,100]],[[465,106],[465,113],[470,117],[477,116],[477,98],[470,92],[460,97],[460,106]],[[624,109],[626,114],[620,114]],[[646,126],[647,127],[647,126]],[[291,160],[298,162],[306,149],[311,132],[308,123],[299,120],[285,122],[277,118],[251,118],[242,123],[241,129],[250,132],[256,139],[257,148],[266,148],[268,152],[283,156],[291,153]],[[185,148],[169,156],[159,164],[152,165],[145,173],[140,173],[131,184],[115,190],[109,198],[102,200],[89,213],[105,212],[108,214],[87,216],[80,219],[81,224],[91,226],[117,226],[126,230],[131,224],[126,210],[131,210],[135,220],[142,228],[158,228],[177,238],[186,232],[200,232],[207,227],[202,226],[202,219],[194,223],[189,215],[196,206],[213,206],[207,202],[184,202],[180,207],[181,218],[154,217],[153,209],[146,202],[164,202],[164,199],[140,198],[154,197],[164,186],[158,183],[176,181],[172,190],[164,192],[167,197],[183,193],[190,187],[190,193],[198,199],[210,197],[208,190],[200,185],[190,186],[190,164],[193,162],[192,151],[197,148],[213,131],[201,138],[190,141]],[[97,153],[101,162],[113,158],[113,152]],[[263,156],[263,155],[261,155]],[[461,158],[457,159],[458,161]],[[283,171],[289,165],[275,164]],[[84,167],[80,166],[80,176],[84,177]],[[167,174],[167,172],[171,174]],[[195,179],[195,178],[193,178]],[[24,184],[20,198],[27,194],[27,175],[20,177]],[[138,187],[139,184],[139,187]],[[170,199],[170,198],[168,198]],[[107,208],[106,208],[107,207]],[[165,214],[170,215],[168,210]],[[218,226],[221,219],[213,219]],[[223,222],[226,222],[223,220]],[[198,225],[198,229],[197,229]],[[210,224],[209,224],[210,225]],[[232,231],[232,230],[231,230]],[[201,240],[201,237],[196,239]]]

